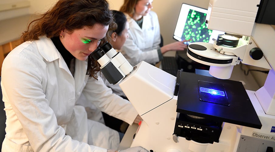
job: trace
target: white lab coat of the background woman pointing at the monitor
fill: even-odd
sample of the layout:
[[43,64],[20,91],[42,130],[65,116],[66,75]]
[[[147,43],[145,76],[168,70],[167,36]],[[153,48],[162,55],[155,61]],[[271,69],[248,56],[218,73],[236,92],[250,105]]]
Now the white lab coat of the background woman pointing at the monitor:
[[150,64],[159,62],[157,49],[160,48],[160,25],[155,12],[143,16],[142,28],[128,14],[129,37],[119,50],[132,66],[141,61]]

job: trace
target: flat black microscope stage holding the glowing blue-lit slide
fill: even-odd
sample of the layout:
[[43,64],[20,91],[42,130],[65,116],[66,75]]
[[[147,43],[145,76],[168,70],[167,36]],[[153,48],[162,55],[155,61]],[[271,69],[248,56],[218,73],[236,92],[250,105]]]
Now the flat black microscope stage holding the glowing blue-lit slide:
[[181,72],[177,112],[260,129],[262,124],[239,81]]

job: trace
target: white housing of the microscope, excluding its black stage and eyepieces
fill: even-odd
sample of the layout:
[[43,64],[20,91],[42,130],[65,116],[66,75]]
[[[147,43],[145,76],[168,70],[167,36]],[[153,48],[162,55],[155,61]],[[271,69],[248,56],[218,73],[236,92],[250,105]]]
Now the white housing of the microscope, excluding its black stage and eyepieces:
[[[141,62],[119,84],[143,119],[131,147],[142,146],[147,150],[161,152],[275,149],[275,51],[273,51],[275,30],[271,25],[255,23],[259,4],[260,0],[210,0],[207,15],[208,28],[242,35],[243,38],[235,48],[216,45],[214,41],[210,46],[207,43],[191,43],[205,46],[209,51],[212,50],[210,53],[199,54],[194,49],[190,51],[214,60],[232,58],[234,61],[232,64],[217,65],[200,60],[188,53],[187,55],[197,62],[213,66],[209,73],[216,78],[219,76],[222,79],[230,78],[233,66],[240,61],[270,69],[262,88],[256,92],[246,90],[262,124],[261,129],[223,123],[219,142],[214,143],[198,143],[173,135],[179,115],[176,112],[179,101],[177,101],[177,95],[174,95],[175,86],[177,86],[176,77],[146,62]],[[260,60],[254,60],[249,55],[250,50],[255,47],[263,51],[263,57]],[[225,71],[229,71],[224,75],[219,71],[224,69],[223,67],[227,68]],[[245,108],[243,107],[244,110]]]

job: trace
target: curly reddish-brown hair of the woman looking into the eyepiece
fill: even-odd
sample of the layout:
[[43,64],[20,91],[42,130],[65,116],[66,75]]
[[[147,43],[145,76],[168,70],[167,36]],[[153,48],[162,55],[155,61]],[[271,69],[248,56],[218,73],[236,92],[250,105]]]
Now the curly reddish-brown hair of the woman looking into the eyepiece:
[[[52,38],[59,36],[61,30],[73,32],[84,26],[93,27],[96,23],[109,26],[105,41],[109,40],[116,24],[106,0],[59,0],[47,12],[39,14],[37,19],[29,23],[21,40],[39,40],[40,36]],[[96,74],[100,71],[100,65],[92,57],[88,58],[88,71],[94,78],[97,78]]]

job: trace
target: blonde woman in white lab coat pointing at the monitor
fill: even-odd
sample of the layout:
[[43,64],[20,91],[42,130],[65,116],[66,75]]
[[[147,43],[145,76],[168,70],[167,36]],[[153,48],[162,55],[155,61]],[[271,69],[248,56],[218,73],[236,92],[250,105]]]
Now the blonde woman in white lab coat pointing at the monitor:
[[171,50],[184,50],[183,40],[160,46],[160,25],[155,12],[151,11],[153,0],[124,0],[120,8],[129,22],[129,38],[120,50],[132,66],[141,61],[156,64],[163,54]]

